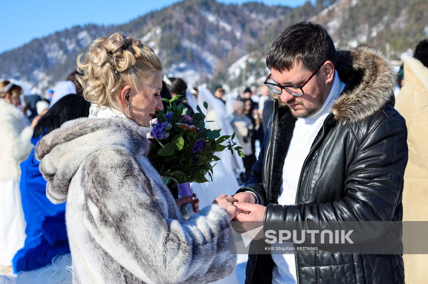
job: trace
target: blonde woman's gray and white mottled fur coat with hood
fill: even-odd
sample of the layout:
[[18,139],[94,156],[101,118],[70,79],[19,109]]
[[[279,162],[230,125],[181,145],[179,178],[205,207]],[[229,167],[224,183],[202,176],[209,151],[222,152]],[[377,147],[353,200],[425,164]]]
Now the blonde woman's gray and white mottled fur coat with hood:
[[148,151],[138,127],[104,118],[68,121],[37,145],[48,198],[67,201],[74,284],[203,284],[235,269],[226,211],[184,221]]

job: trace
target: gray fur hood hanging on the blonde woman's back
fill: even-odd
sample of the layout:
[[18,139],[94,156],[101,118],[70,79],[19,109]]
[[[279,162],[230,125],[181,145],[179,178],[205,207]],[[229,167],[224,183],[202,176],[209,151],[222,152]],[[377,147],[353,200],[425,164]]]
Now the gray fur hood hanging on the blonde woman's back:
[[36,146],[36,158],[45,180],[46,195],[53,203],[67,199],[70,181],[90,155],[106,148],[124,148],[134,157],[147,155],[145,133],[128,121],[78,118],[65,122],[44,136]]

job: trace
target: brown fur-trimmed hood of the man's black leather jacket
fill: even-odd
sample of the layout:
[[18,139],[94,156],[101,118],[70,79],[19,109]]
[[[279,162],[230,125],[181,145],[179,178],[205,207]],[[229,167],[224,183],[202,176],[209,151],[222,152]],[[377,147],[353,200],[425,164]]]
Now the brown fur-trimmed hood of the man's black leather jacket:
[[366,46],[337,49],[335,67],[346,84],[330,110],[340,124],[363,120],[388,103],[396,76],[379,50]]

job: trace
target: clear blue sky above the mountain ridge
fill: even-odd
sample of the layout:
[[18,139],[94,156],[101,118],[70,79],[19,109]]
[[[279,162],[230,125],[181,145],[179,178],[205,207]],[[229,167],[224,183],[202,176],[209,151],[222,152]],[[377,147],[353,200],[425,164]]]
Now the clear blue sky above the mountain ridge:
[[[248,0],[219,0],[244,3]],[[88,23],[122,24],[177,0],[6,0],[2,3],[0,53],[33,38]],[[306,0],[258,0],[267,5],[298,6]]]

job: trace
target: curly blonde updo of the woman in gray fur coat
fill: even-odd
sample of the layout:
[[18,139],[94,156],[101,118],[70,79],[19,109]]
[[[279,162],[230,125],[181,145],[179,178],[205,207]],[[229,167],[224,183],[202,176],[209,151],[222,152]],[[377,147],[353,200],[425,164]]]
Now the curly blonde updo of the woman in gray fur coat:
[[[84,60],[82,61],[82,56]],[[141,91],[163,66],[152,48],[124,33],[97,38],[88,52],[77,56],[77,81],[87,101],[122,111],[116,92],[125,86]]]

